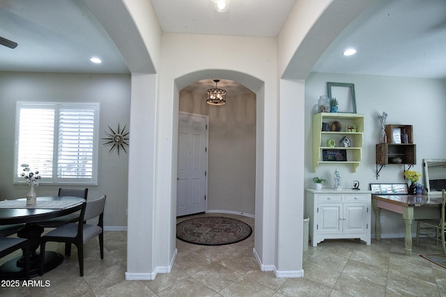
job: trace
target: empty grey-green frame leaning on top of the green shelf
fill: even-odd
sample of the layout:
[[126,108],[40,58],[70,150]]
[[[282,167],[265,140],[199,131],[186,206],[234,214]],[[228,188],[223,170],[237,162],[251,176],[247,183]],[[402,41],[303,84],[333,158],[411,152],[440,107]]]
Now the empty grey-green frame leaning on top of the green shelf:
[[329,98],[336,98],[339,113],[356,113],[355,85],[353,83],[327,83]]

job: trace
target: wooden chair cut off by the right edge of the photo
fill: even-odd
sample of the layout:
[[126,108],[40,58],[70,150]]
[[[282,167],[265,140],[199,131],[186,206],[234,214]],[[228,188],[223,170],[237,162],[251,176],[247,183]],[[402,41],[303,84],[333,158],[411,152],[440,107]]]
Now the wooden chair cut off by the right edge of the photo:
[[445,201],[446,194],[445,190],[441,193],[441,209],[440,209],[440,218],[426,218],[426,219],[417,219],[417,246],[418,239],[420,235],[424,235],[431,239],[436,240],[436,244],[441,241],[443,254],[446,257],[446,246],[445,246]]

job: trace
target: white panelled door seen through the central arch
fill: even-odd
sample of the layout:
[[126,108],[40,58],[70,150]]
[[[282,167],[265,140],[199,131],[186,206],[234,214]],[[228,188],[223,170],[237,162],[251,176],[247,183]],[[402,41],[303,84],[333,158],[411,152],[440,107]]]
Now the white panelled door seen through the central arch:
[[208,117],[178,113],[176,216],[206,209]]

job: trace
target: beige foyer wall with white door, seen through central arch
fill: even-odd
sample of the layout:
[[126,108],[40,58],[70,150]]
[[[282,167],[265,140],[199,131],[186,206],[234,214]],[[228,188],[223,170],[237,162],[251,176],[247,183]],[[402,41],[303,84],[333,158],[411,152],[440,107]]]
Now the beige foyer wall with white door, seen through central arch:
[[226,90],[226,104],[212,106],[206,104],[209,88],[215,88],[213,79],[180,90],[176,215],[206,211],[254,218],[256,95],[236,81],[221,80],[218,88]]

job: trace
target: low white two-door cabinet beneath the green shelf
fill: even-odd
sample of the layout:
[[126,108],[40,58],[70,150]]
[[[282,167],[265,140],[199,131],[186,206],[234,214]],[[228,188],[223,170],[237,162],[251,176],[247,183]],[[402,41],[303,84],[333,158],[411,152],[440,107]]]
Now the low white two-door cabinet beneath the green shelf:
[[362,239],[370,244],[371,191],[307,188],[305,194],[313,246],[324,239]]

